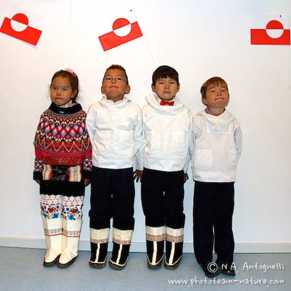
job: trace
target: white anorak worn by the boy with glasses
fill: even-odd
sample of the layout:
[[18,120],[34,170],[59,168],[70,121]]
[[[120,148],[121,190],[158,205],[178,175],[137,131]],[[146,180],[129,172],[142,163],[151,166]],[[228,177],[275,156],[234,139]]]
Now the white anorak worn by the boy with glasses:
[[92,165],[100,168],[133,167],[142,147],[141,109],[130,99],[113,102],[106,96],[90,106],[86,126],[92,142]]

